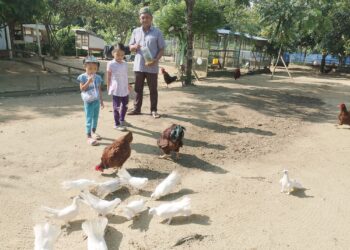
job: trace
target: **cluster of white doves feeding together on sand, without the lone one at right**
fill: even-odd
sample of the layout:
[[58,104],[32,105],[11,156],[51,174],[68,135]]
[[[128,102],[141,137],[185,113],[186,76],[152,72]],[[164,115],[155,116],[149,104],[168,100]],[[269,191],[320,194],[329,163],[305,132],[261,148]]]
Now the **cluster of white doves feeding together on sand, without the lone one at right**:
[[[170,192],[180,181],[180,175],[173,171],[167,176],[154,190],[151,199],[157,200]],[[80,202],[88,205],[93,209],[97,216],[96,218],[86,220],[82,223],[82,230],[87,236],[87,244],[89,250],[105,250],[107,249],[104,239],[105,229],[108,223],[106,215],[112,214],[113,210],[121,203],[119,198],[113,200],[105,200],[104,198],[122,187],[129,186],[133,189],[140,190],[148,183],[147,178],[133,177],[127,170],[120,169],[118,177],[106,182],[97,183],[94,180],[79,179],[74,181],[62,182],[62,188],[65,190],[78,190],[80,193],[73,198],[71,205],[62,209],[53,209],[42,207],[51,219],[58,220],[64,223],[66,228],[69,228],[71,222],[79,214]],[[90,190],[92,194],[90,193]],[[134,200],[122,206],[123,216],[131,220],[141,212],[149,209],[149,214],[157,215],[162,219],[167,219],[168,224],[175,216],[190,216],[191,215],[191,200],[185,196],[180,200],[172,202],[164,202],[157,207],[146,207],[144,199]],[[61,234],[61,226],[50,222],[36,224],[34,226],[34,249],[35,250],[51,250],[54,243]]]

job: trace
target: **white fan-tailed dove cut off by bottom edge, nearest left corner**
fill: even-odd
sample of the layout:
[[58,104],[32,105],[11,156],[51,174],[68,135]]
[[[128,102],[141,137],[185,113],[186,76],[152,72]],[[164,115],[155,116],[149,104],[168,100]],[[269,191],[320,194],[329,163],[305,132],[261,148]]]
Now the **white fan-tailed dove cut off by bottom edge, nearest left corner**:
[[33,227],[35,241],[34,250],[52,250],[54,243],[61,234],[61,228],[46,222]]

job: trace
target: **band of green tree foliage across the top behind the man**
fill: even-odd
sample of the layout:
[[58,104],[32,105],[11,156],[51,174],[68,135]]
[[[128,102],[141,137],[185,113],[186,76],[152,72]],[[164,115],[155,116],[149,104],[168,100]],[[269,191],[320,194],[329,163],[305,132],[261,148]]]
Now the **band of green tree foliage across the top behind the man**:
[[[185,0],[0,0],[0,23],[39,21],[46,25],[52,54],[61,52],[72,26],[94,31],[108,43],[127,42],[139,25],[138,10],[148,5],[155,24],[177,37],[186,49]],[[214,34],[218,27],[261,35],[272,50],[350,52],[349,0],[196,0],[194,34]],[[11,33],[13,40],[13,32]]]

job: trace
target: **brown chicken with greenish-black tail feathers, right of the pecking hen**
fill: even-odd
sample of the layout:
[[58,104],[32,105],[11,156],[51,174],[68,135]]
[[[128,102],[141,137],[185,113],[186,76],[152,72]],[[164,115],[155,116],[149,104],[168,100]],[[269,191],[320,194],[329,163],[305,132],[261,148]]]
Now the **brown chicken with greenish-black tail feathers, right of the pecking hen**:
[[179,151],[183,146],[182,139],[184,138],[186,129],[180,125],[173,124],[163,131],[158,139],[158,147],[164,152],[160,158],[170,157],[171,152],[176,152],[176,158],[179,159]]

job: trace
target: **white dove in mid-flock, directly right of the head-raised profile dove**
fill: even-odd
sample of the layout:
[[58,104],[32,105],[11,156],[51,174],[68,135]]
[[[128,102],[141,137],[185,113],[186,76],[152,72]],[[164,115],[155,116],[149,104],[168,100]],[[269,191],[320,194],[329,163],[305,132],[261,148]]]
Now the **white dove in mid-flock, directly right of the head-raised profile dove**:
[[115,209],[121,200],[115,198],[114,200],[107,201],[102,200],[89,192],[82,192],[80,196],[83,198],[86,204],[94,209],[99,215],[106,216]]

